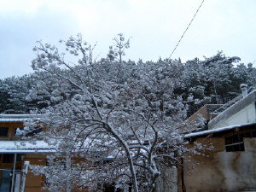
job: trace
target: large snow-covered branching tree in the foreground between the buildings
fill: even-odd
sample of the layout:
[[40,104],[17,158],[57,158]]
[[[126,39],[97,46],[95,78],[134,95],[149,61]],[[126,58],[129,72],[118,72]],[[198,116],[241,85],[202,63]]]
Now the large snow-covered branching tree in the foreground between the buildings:
[[[179,129],[187,106],[173,93],[180,85],[171,69],[174,64],[92,63],[80,35],[63,42],[67,52],[80,56],[76,64],[50,44],[38,42],[33,49],[38,80],[27,99],[49,100],[38,111],[38,122],[26,122],[24,131],[42,126],[44,131],[34,138],[58,148],[49,164],[34,167],[35,172],[48,177],[46,187],[52,191],[61,191],[62,181],[67,191],[85,186],[100,191],[100,183],[156,191],[164,177],[160,167],[177,165],[188,150]],[[67,172],[69,179],[63,174],[51,178],[49,170],[58,167],[72,172]]]

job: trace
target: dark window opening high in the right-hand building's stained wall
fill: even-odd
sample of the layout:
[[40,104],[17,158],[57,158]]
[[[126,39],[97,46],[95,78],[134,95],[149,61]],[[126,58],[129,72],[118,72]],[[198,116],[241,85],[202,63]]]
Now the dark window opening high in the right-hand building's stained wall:
[[256,131],[225,137],[226,152],[244,151],[243,137],[256,137]]

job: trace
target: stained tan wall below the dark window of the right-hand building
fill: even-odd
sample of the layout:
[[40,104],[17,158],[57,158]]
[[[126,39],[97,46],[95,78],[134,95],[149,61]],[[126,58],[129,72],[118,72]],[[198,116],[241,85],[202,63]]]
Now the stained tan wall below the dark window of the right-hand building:
[[[209,138],[204,138],[209,142]],[[197,142],[204,143],[203,139]],[[184,185],[187,192],[256,190],[256,138],[244,138],[245,151],[226,152],[224,138],[211,138],[215,147],[207,156],[191,156],[198,166],[184,161]]]

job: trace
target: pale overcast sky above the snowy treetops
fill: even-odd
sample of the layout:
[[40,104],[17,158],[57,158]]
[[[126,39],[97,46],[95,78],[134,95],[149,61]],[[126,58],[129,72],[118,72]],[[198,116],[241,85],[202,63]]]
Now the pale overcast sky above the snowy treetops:
[[[202,0],[0,0],[0,79],[32,73],[36,41],[58,46],[82,33],[106,57],[116,34],[131,38],[125,59],[169,57]],[[172,55],[187,61],[215,55],[256,60],[256,1],[205,0]],[[254,67],[256,63],[253,64]]]

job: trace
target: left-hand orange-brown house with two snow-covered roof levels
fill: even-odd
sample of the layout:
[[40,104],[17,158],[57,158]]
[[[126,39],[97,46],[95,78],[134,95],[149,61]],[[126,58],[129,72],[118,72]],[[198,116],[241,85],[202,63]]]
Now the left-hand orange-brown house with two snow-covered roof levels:
[[[31,165],[45,165],[45,154],[52,153],[47,143],[38,141],[36,145],[20,143],[15,137],[17,128],[32,118],[24,114],[0,114],[0,191],[37,192],[42,190],[44,177],[35,176],[29,169]],[[23,189],[25,190],[23,190]]]

